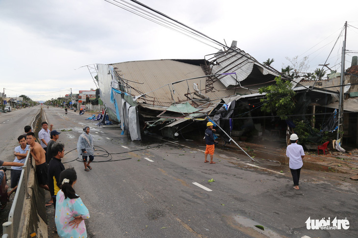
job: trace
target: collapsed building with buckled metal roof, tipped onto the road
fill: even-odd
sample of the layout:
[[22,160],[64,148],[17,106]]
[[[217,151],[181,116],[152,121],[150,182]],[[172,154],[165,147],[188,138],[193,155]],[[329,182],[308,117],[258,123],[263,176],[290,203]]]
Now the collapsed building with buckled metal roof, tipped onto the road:
[[278,72],[235,44],[207,59],[98,64],[96,78],[108,115],[132,140],[155,127],[174,138],[183,122],[204,120],[233,95],[252,95],[274,83]]

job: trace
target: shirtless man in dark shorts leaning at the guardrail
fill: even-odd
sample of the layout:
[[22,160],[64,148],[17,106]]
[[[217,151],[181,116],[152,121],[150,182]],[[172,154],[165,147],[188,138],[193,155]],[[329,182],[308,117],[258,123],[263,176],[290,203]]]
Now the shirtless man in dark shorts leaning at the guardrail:
[[35,133],[33,132],[27,133],[26,141],[30,145],[30,153],[35,160],[37,182],[41,188],[50,191],[47,180],[48,166],[46,163],[45,150],[39,143],[35,142]]

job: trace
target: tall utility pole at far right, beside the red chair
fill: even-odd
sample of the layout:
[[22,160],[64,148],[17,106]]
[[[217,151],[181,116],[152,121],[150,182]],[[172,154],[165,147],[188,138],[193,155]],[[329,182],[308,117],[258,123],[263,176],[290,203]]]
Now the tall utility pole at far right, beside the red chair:
[[344,80],[344,61],[345,61],[345,54],[346,54],[347,22],[344,24],[344,27],[345,27],[345,33],[344,33],[344,41],[343,41],[343,47],[342,47],[341,82],[340,82],[340,90],[339,90],[337,140],[341,138],[340,135],[342,135],[342,133],[343,133],[343,96],[344,96],[343,80]]

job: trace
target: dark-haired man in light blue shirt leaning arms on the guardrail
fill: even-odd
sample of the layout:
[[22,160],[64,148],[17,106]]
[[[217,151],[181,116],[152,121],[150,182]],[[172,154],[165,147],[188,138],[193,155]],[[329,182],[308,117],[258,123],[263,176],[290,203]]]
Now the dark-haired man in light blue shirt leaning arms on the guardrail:
[[[24,164],[30,145],[26,144],[26,137],[24,135],[19,136],[17,140],[19,141],[20,145],[16,146],[14,149],[14,155],[15,155],[14,162]],[[21,171],[23,170],[22,167],[18,167],[18,166],[13,166],[11,168],[13,169],[11,170],[11,175],[10,175],[12,190],[10,190],[7,193],[8,197],[10,197],[10,195],[16,191],[17,186],[19,184]]]

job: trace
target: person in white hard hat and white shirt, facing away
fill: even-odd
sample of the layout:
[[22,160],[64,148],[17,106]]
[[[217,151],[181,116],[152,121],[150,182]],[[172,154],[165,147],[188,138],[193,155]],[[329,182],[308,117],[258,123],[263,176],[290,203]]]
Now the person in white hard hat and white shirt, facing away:
[[287,146],[286,156],[289,160],[289,167],[291,170],[292,178],[293,178],[293,188],[295,190],[299,190],[298,187],[300,181],[300,173],[301,168],[303,166],[303,158],[305,157],[305,152],[303,150],[302,145],[297,144],[298,136],[296,134],[292,134],[290,136],[291,144]]

